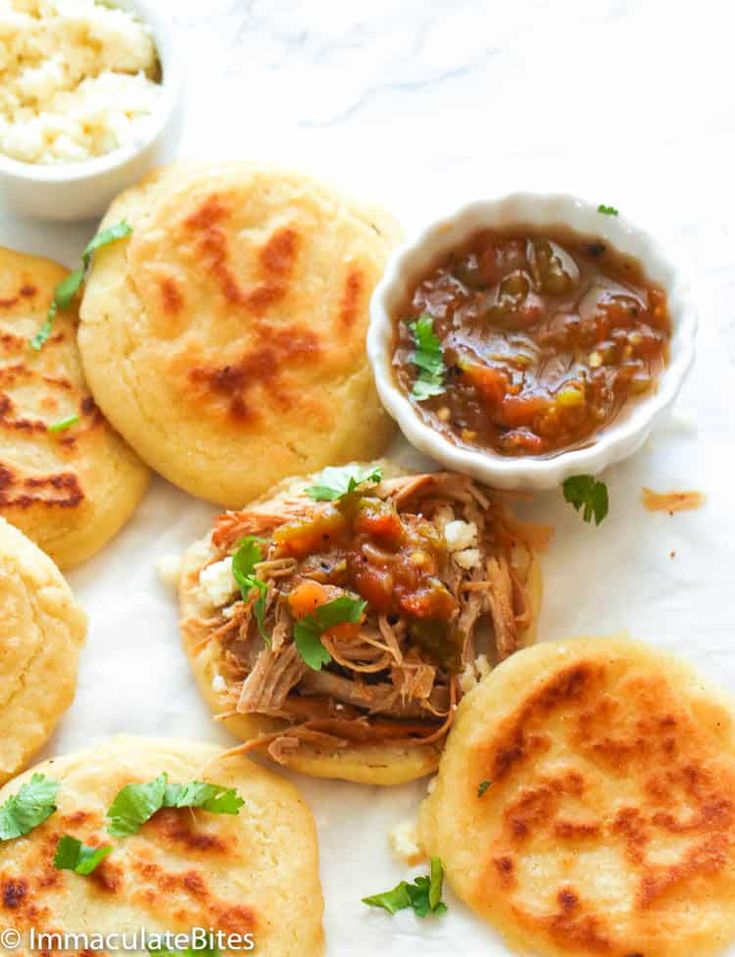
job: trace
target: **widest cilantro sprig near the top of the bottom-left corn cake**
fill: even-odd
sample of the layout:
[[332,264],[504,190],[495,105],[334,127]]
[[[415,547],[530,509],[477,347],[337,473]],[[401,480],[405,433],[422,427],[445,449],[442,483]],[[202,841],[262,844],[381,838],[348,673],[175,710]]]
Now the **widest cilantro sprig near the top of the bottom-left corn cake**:
[[144,784],[126,784],[107,810],[108,834],[135,834],[163,807],[199,807],[212,814],[238,814],[245,802],[234,788],[205,781],[169,784],[164,772]]

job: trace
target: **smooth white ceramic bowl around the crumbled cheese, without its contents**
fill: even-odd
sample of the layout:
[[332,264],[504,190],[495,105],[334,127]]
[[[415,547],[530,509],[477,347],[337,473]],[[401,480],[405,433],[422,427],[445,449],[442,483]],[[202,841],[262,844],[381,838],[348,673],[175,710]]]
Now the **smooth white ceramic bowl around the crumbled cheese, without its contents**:
[[0,206],[36,219],[91,219],[154,166],[174,155],[181,131],[182,68],[169,24],[155,0],[114,0],[149,24],[162,68],[163,95],[144,136],[77,163],[20,163],[0,154]]

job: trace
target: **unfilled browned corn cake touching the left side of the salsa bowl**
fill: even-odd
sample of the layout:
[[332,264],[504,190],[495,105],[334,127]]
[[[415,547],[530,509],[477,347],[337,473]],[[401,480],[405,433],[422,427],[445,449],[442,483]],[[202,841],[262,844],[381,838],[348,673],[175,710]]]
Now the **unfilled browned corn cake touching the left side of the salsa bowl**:
[[382,452],[368,301],[384,214],[294,173],[174,166],[123,193],[81,308],[95,398],[157,471],[232,508],[285,475]]

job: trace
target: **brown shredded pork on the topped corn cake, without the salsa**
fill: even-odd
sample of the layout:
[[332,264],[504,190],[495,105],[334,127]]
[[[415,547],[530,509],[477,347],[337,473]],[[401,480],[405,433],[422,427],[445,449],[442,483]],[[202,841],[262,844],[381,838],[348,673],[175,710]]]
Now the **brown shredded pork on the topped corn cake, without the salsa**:
[[[268,585],[270,643],[264,645],[259,635],[252,597],[220,610],[206,631],[222,645],[222,673],[237,702],[234,713],[288,722],[281,731],[248,742],[246,750],[267,748],[274,760],[288,763],[302,743],[332,751],[351,743],[414,746],[441,740],[466,685],[460,674],[480,674],[476,661],[486,655],[508,657],[531,623],[525,573],[537,544],[534,537],[541,533],[511,519],[500,496],[447,472],[385,480],[366,494],[391,506],[406,528],[429,523],[437,541],[444,541],[449,523],[454,523],[455,536],[458,529],[472,526],[469,557],[467,550],[456,553],[464,559],[447,547],[437,552],[437,577],[454,607],[445,642],[452,653],[445,654],[443,646],[435,647],[429,639],[422,643],[411,615],[378,613],[368,601],[353,632],[335,628],[321,636],[331,660],[320,671],[309,668],[294,643],[288,597],[295,583],[303,581],[326,582],[339,591],[331,583],[339,581],[345,556],[325,546],[294,558],[271,536],[289,524],[308,522],[323,506],[294,494],[275,500],[278,507],[271,503],[268,512],[226,513],[212,535],[212,562],[232,555],[246,535],[268,542],[256,572]],[[398,560],[380,542],[363,541],[361,548],[361,561],[378,569],[390,571]],[[420,564],[424,559],[409,555],[407,560]]]

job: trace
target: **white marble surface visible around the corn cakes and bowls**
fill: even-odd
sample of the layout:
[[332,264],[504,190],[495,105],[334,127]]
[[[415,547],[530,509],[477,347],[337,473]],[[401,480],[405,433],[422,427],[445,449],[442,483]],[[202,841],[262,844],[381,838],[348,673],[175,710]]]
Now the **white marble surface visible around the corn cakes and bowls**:
[[[556,494],[545,638],[628,629],[735,691],[735,72],[728,4],[704,0],[160,0],[188,64],[182,155],[299,166],[382,201],[411,230],[474,196],[568,189],[680,250],[700,303],[694,373],[671,422],[610,471],[611,514],[582,525]],[[93,227],[0,217],[0,242],[72,264]],[[643,484],[708,494],[649,515]],[[49,751],[127,731],[227,740],[182,660],[156,556],[213,510],[159,481],[71,580],[91,616],[77,700]],[[219,736],[218,736],[219,735]],[[301,782],[321,840],[330,957],[506,953],[449,895],[441,920],[364,908],[406,876],[387,827],[421,786]],[[733,951],[735,953],[735,951]]]

